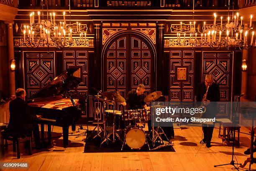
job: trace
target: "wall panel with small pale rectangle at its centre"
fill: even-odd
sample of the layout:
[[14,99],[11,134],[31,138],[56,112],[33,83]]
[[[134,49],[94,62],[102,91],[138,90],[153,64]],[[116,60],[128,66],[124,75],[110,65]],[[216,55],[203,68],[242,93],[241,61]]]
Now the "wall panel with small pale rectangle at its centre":
[[170,51],[169,100],[194,101],[194,51]]

